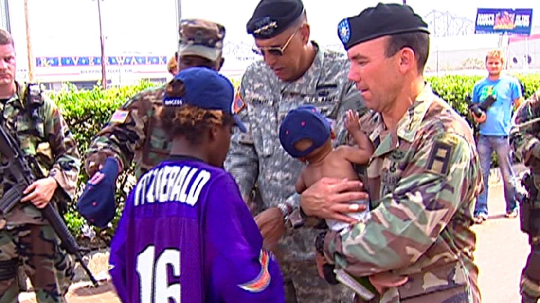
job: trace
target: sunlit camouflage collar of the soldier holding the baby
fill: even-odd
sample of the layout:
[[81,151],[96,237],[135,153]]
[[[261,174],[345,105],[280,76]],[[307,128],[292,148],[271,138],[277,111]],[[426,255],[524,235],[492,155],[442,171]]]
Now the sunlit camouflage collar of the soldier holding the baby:
[[433,103],[434,94],[431,86],[426,83],[416,101],[407,109],[401,120],[397,122],[397,135],[408,142],[413,142],[417,130],[426,116],[429,106]]

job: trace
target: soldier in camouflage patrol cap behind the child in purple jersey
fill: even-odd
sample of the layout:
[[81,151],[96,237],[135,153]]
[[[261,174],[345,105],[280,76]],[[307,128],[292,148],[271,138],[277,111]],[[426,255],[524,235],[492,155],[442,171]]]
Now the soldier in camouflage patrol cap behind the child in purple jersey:
[[[225,27],[186,19],[180,22],[179,34],[179,71],[193,66],[220,70]],[[158,120],[164,91],[165,85],[147,89],[114,112],[86,150],[84,165],[89,176],[100,169],[107,156],[115,157],[123,169],[128,169],[134,159],[137,178],[166,159],[171,141]]]

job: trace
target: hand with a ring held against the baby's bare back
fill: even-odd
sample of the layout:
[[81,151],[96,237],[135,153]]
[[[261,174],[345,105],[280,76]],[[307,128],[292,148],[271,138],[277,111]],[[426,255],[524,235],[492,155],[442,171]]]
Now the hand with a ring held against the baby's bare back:
[[323,177],[302,192],[300,206],[308,216],[355,223],[355,219],[345,214],[366,209],[366,205],[350,203],[368,199],[362,188],[362,182],[357,180]]

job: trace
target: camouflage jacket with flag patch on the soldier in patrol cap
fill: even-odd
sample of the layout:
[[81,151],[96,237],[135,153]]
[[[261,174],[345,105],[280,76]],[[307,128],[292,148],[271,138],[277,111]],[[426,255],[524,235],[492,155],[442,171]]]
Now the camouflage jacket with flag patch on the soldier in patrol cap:
[[138,178],[165,160],[171,140],[159,121],[164,92],[165,85],[146,89],[114,112],[86,150],[85,161],[89,155],[105,150],[117,157],[123,169],[128,169],[135,160]]

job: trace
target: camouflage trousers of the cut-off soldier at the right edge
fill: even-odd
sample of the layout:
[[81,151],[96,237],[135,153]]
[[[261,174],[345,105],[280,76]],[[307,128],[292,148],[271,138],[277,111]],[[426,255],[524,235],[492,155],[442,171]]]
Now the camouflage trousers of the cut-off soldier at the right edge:
[[[522,303],[536,303],[540,299],[540,246],[532,249],[527,259],[527,264],[521,273],[519,281],[519,293]],[[537,277],[531,277],[530,273],[535,273]]]

